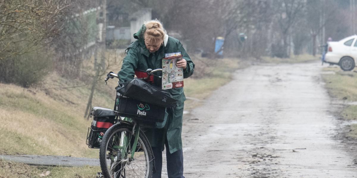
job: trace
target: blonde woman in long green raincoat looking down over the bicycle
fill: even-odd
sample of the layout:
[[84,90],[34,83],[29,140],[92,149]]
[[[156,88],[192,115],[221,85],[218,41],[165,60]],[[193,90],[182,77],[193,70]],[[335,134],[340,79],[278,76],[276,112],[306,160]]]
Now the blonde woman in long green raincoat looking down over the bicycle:
[[[186,53],[180,41],[166,34],[162,24],[157,20],[145,23],[140,30],[134,34],[135,42],[126,49],[120,72],[118,73],[121,83],[130,82],[137,70],[162,68],[162,58],[165,53],[181,52],[181,61],[177,67],[183,68],[183,78],[193,74],[195,64]],[[161,80],[155,80],[154,84],[161,87]],[[162,129],[148,129],[145,135],[148,137],[155,157],[156,172],[152,178],[161,178],[162,151],[166,146],[167,174],[169,178],[183,177],[183,155],[182,155],[182,115],[183,102],[186,100],[183,88],[168,90],[173,98],[177,99],[176,108],[167,109],[166,125]]]

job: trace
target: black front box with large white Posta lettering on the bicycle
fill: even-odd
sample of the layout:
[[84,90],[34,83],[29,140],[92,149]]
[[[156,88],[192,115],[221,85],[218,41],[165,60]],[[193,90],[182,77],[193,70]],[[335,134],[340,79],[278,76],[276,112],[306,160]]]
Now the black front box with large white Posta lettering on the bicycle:
[[154,125],[155,122],[164,121],[166,108],[132,99],[117,92],[115,110],[119,116],[139,119],[145,121],[145,124]]

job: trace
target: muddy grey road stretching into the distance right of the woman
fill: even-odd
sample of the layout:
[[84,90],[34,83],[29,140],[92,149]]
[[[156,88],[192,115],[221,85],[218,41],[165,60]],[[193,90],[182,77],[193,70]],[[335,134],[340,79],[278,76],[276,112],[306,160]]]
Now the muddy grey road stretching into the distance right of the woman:
[[234,73],[184,119],[186,178],[357,177],[317,63]]

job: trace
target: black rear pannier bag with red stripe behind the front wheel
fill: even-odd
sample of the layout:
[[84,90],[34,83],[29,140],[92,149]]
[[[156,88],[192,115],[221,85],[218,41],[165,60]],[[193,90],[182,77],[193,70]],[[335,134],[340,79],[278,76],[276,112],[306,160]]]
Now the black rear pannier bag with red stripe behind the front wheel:
[[115,124],[115,112],[111,109],[93,107],[90,116],[93,116],[91,127],[88,129],[86,144],[89,148],[100,148],[105,132]]

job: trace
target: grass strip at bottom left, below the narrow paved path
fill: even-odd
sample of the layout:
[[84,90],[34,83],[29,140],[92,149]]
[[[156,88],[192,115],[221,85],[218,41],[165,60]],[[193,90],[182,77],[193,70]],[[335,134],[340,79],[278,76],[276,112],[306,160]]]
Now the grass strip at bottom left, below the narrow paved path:
[[30,166],[23,163],[5,162],[0,160],[0,177],[29,178],[40,177],[40,174],[50,174],[48,178],[94,178],[100,167],[62,167],[62,166]]

